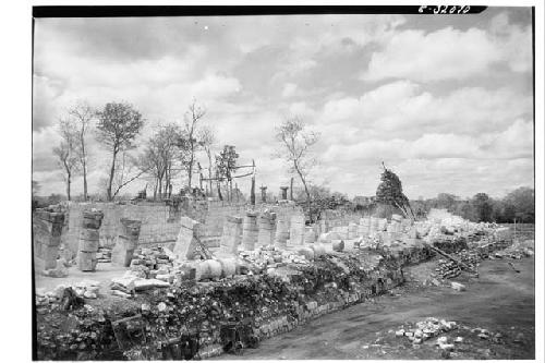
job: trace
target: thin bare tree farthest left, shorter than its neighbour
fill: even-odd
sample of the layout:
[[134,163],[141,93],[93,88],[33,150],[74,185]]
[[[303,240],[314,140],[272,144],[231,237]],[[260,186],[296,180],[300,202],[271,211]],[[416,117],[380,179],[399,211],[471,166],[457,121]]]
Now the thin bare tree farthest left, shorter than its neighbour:
[[74,172],[77,171],[78,159],[76,154],[77,133],[74,124],[65,119],[59,120],[59,133],[61,142],[59,146],[53,147],[53,154],[58,157],[60,167],[64,171],[66,182],[66,197],[71,201],[71,184]]

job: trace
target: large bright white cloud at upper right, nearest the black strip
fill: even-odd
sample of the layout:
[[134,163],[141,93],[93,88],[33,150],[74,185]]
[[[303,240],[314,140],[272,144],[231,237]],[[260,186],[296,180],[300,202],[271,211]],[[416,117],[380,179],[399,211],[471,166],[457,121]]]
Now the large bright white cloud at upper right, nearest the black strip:
[[491,29],[459,31],[451,26],[431,33],[405,29],[373,53],[362,78],[459,82],[492,76],[497,72],[493,65],[498,63],[516,72],[528,72],[532,66],[531,35],[530,26],[511,25],[506,14],[496,16]]

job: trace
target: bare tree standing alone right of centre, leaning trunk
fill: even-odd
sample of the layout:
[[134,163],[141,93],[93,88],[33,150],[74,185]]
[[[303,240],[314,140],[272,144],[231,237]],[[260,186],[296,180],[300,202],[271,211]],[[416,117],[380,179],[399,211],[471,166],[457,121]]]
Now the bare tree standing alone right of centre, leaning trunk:
[[276,138],[282,145],[277,157],[288,161],[291,174],[298,174],[303,183],[306,194],[308,217],[312,220],[311,193],[308,192],[307,178],[310,169],[316,165],[310,148],[316,144],[319,134],[305,130],[306,125],[299,118],[287,119],[278,129]]

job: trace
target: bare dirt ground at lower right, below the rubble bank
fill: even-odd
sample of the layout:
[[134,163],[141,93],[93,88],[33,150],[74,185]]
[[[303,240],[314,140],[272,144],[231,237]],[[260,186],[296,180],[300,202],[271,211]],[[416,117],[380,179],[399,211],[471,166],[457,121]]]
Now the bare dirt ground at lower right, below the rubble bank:
[[[495,259],[482,263],[479,278],[456,279],[467,286],[465,291],[409,281],[374,302],[323,316],[262,341],[259,348],[247,349],[243,355],[217,360],[441,359],[441,350],[435,347],[437,338],[413,347],[405,337],[395,336],[403,324],[426,317],[458,323],[458,329],[444,334],[450,339],[464,339],[456,344],[450,358],[534,359],[534,258],[510,262],[520,273],[507,259]],[[429,262],[415,268],[422,271],[434,266]],[[489,330],[491,338],[480,338],[474,328]]]

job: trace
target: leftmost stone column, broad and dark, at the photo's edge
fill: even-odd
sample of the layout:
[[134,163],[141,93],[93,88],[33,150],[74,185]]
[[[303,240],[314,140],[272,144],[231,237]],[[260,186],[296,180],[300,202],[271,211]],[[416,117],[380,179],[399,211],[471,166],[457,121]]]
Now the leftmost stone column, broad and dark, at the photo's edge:
[[33,218],[34,254],[44,259],[45,269],[57,267],[64,213],[37,209]]

